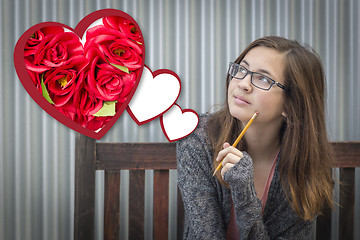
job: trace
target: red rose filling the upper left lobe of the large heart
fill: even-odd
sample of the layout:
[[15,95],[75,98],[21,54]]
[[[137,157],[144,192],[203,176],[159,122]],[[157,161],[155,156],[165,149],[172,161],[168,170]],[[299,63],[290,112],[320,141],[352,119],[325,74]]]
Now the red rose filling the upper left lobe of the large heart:
[[50,34],[36,45],[31,58],[25,57],[25,66],[30,71],[42,73],[51,68],[68,65],[79,55],[83,55],[83,46],[76,34]]

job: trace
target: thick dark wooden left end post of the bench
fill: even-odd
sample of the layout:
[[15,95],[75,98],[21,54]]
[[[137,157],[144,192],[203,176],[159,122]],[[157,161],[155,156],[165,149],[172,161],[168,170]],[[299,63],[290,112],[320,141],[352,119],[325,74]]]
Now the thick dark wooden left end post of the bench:
[[95,218],[95,140],[76,135],[74,239],[92,240]]

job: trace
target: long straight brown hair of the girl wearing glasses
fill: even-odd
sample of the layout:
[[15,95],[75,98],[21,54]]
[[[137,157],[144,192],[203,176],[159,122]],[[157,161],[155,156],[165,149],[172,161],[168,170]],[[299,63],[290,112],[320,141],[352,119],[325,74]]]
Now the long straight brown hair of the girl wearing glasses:
[[[240,63],[257,46],[275,49],[286,58],[286,118],[279,132],[279,172],[283,189],[294,211],[304,220],[312,220],[325,205],[333,206],[331,169],[334,159],[326,133],[323,66],[320,57],[312,49],[275,36],[255,40],[235,62]],[[226,96],[230,80],[227,75]],[[216,167],[218,162],[215,158],[222,150],[223,143],[235,141],[241,131],[240,121],[231,116],[225,101],[223,108],[211,115],[207,129]],[[246,151],[246,141],[241,141],[239,149]],[[220,173],[217,173],[217,178],[224,183]]]

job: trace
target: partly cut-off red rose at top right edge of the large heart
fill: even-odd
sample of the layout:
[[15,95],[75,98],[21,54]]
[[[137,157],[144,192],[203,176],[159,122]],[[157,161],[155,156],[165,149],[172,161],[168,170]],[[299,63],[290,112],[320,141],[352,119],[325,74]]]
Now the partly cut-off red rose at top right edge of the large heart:
[[105,27],[119,30],[125,34],[131,40],[134,40],[138,44],[141,44],[142,38],[139,29],[129,19],[117,16],[109,16],[103,18]]

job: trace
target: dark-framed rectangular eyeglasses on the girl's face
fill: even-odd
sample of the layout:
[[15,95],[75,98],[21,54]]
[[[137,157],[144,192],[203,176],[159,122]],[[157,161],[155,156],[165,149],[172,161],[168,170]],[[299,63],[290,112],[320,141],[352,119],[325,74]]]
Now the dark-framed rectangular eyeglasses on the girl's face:
[[236,79],[244,79],[248,74],[251,75],[251,84],[257,88],[260,88],[265,91],[269,91],[274,84],[276,84],[279,88],[286,91],[286,88],[281,83],[265,76],[261,73],[252,72],[248,70],[246,67],[241,66],[240,64],[231,62],[229,64],[229,75],[232,78]]

